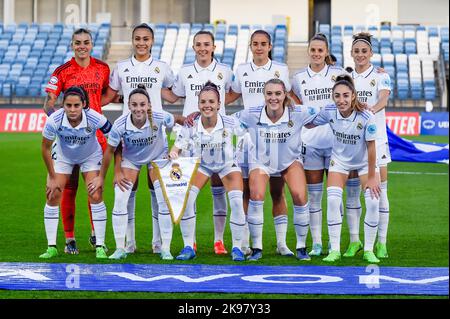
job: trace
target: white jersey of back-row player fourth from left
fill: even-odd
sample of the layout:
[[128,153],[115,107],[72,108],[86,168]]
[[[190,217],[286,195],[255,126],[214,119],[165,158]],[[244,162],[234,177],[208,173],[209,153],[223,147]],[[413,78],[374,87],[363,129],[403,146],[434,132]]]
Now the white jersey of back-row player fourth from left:
[[257,66],[253,62],[243,63],[236,69],[231,89],[242,94],[244,108],[263,105],[264,84],[273,78],[282,80],[286,86],[286,91],[291,90],[289,69],[286,64],[270,59],[263,66]]

